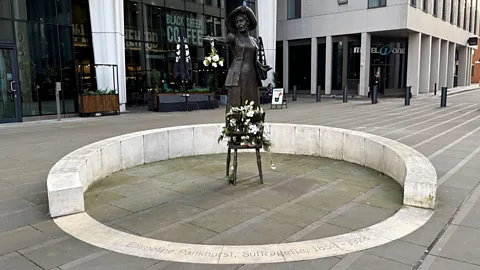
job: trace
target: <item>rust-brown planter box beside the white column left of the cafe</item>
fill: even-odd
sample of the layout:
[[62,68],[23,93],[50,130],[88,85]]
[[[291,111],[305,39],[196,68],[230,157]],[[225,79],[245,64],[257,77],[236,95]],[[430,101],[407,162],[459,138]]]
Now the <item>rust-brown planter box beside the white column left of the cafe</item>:
[[79,113],[120,113],[118,95],[81,95],[78,98]]

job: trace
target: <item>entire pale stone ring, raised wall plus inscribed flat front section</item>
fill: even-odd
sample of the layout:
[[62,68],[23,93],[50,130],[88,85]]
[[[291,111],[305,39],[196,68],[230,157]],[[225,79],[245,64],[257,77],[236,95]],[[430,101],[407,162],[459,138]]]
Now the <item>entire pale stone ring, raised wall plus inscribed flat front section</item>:
[[[84,212],[83,194],[88,187],[117,171],[171,158],[226,153],[226,143],[217,143],[223,125],[205,124],[141,131],[75,150],[59,160],[48,174],[47,190],[51,217],[69,234],[93,245],[125,254],[182,262],[249,263],[248,260],[251,259],[252,263],[261,263],[335,256],[378,246],[413,232],[427,222],[433,213],[430,209],[435,207],[436,171],[430,161],[416,150],[363,132],[273,123],[266,124],[266,132],[270,134],[273,143],[273,153],[345,160],[383,172],[403,187],[404,207],[389,219],[353,233],[297,243],[248,246],[248,250],[253,252],[264,250],[266,246],[293,248],[291,245],[311,245],[316,241],[315,245],[326,245],[323,248],[314,248],[321,250],[320,253],[296,252],[295,255],[287,256],[279,251],[281,256],[240,256],[243,260],[235,257],[236,260],[222,252],[217,254],[219,258],[213,256],[213,259],[212,256],[186,255],[187,252],[192,252],[191,249],[201,249],[199,254],[206,254],[202,252],[214,252],[217,247],[235,250],[242,246],[190,245],[142,238],[109,228]],[[341,248],[339,245],[342,243],[335,241],[343,241],[355,248]],[[332,243],[333,246],[329,246]],[[174,249],[176,245],[182,245],[183,249],[180,246]],[[159,252],[159,247],[165,249],[166,246],[171,248],[171,253]],[[175,250],[180,250],[179,254],[175,253]],[[178,256],[172,257],[175,254]]]

